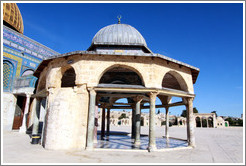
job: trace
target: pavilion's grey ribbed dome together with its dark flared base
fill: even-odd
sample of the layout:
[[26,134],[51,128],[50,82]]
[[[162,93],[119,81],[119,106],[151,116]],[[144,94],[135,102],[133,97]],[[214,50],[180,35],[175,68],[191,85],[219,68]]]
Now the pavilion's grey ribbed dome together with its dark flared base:
[[[106,47],[105,47],[106,46]],[[147,47],[146,41],[141,33],[128,24],[112,24],[100,29],[92,39],[88,51],[101,51],[107,49],[128,50],[129,46],[136,50],[142,50],[144,53],[151,51]]]

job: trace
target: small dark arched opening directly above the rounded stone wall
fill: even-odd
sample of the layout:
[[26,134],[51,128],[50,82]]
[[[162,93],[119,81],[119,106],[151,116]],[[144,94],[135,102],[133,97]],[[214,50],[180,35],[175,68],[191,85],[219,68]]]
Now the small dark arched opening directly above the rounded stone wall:
[[61,79],[61,87],[74,87],[75,86],[76,74],[74,69],[71,67],[67,69]]

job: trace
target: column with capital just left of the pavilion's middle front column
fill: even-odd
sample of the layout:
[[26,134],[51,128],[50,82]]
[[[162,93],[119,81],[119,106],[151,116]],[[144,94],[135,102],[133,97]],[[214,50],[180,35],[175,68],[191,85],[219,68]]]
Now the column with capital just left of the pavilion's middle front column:
[[140,145],[140,133],[141,133],[141,108],[140,104],[143,100],[143,97],[137,96],[135,99],[136,102],[136,116],[135,116],[135,124],[136,124],[136,134],[135,134],[135,145]]

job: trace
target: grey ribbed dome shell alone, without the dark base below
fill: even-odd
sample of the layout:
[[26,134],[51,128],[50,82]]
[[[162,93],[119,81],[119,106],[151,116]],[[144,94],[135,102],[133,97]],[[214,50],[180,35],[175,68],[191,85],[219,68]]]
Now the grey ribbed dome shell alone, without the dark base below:
[[127,24],[113,24],[100,29],[92,39],[92,44],[147,47],[145,39],[138,30]]

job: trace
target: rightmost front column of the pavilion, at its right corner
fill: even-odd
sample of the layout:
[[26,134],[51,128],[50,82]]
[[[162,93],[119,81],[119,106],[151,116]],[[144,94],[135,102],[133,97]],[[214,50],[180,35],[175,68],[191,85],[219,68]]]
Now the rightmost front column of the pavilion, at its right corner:
[[195,128],[194,128],[194,118],[193,118],[193,98],[187,98],[187,136],[188,136],[188,145],[195,147]]

